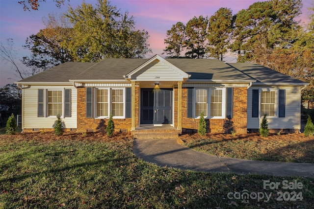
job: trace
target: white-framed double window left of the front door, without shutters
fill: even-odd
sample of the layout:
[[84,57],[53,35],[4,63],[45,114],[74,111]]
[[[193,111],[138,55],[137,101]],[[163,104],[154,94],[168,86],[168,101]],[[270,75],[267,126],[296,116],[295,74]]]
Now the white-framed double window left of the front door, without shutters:
[[125,90],[116,88],[99,88],[95,91],[95,117],[123,118],[125,112]]

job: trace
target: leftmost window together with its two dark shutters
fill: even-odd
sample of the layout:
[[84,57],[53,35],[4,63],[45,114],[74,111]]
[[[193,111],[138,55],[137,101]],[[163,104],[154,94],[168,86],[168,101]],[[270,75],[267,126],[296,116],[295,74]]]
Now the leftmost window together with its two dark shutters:
[[71,89],[45,90],[38,89],[37,116],[71,117]]

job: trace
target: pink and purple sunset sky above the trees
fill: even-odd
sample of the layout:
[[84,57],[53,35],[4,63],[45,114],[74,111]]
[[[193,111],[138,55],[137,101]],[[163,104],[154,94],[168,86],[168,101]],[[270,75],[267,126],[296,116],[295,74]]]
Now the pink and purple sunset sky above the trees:
[[[24,11],[19,0],[0,0],[0,40],[6,43],[6,39],[14,41],[17,50],[16,60],[30,55],[30,52],[22,47],[25,40],[31,34],[36,34],[44,28],[43,17],[49,13],[61,14],[68,8],[68,4],[76,7],[82,0],[70,0],[65,2],[61,8],[55,6],[52,0],[42,2],[38,11]],[[231,8],[233,14],[259,0],[111,0],[111,5],[116,5],[122,12],[128,11],[129,16],[134,17],[136,29],[147,30],[150,38],[149,44],[153,53],[161,55],[165,48],[164,39],[166,31],[177,22],[187,23],[194,16],[208,16],[214,14],[221,7]],[[263,0],[260,0],[263,1]],[[96,0],[85,0],[86,3],[95,4]],[[303,13],[298,18],[301,23],[308,22],[308,9],[313,0],[302,0]],[[163,55],[161,55],[163,56]],[[25,68],[20,64],[20,68]],[[21,80],[16,76],[11,64],[0,61],[0,87]]]

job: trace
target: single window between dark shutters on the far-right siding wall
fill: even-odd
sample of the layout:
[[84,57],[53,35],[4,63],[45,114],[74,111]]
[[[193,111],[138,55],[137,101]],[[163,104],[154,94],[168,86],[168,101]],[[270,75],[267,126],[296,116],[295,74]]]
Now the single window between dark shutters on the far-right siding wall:
[[261,93],[261,116],[276,116],[275,91],[263,91]]

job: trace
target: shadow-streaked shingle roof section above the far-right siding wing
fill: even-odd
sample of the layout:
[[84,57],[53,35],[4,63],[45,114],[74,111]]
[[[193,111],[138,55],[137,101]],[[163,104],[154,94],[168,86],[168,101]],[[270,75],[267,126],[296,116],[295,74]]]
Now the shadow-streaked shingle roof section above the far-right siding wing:
[[303,81],[254,63],[229,63],[229,65],[255,78],[257,83],[304,83]]

